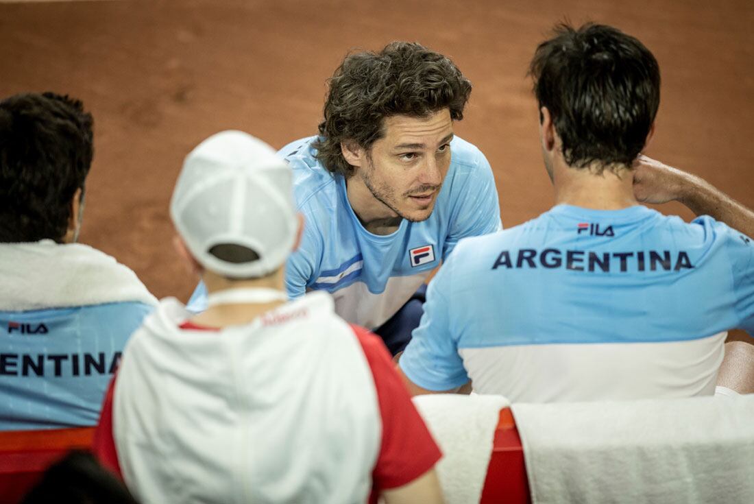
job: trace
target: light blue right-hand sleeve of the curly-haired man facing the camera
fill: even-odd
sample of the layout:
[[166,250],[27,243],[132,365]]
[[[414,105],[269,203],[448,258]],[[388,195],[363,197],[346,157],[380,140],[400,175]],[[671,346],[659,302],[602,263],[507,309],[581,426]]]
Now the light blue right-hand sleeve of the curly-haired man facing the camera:
[[451,216],[443,260],[449,257],[461,238],[487,235],[503,229],[495,176],[483,153],[478,152],[476,166],[458,175],[461,175],[461,186],[452,195],[456,207]]

